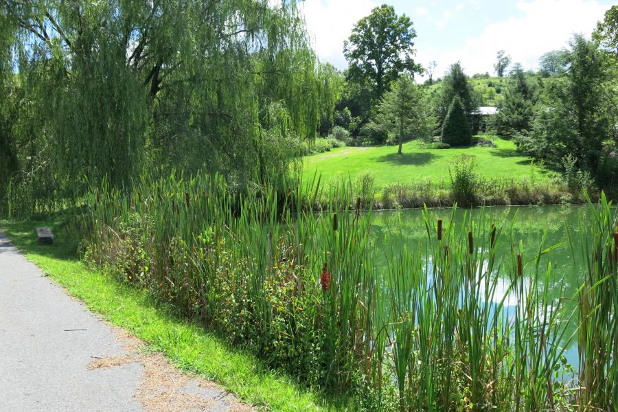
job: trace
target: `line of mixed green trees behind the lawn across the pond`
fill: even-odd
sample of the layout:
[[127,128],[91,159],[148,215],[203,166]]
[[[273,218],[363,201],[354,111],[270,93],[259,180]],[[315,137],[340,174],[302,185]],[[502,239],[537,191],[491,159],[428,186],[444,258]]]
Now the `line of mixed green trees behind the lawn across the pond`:
[[[415,36],[410,19],[387,5],[356,23],[345,43],[350,67],[341,73],[342,98],[323,133],[332,126],[330,135],[343,136],[347,144],[401,147],[407,139],[438,136],[450,146],[466,146],[474,133],[486,131],[515,139],[518,150],[563,172],[573,187],[615,190],[618,6],[606,12],[591,38],[575,35],[568,48],[542,56],[538,71],[510,67],[510,56],[499,51],[494,69],[506,84],[499,90],[498,114],[489,120],[479,112],[487,96],[459,62],[436,79],[435,62],[422,68],[413,61]],[[426,80],[415,84],[420,73]]]

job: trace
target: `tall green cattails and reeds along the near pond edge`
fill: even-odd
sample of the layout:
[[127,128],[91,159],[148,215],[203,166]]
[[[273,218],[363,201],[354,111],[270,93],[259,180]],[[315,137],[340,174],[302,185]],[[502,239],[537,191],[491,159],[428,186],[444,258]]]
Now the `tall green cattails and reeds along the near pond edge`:
[[[87,199],[87,257],[268,365],[354,391],[358,409],[615,410],[618,235],[604,198],[578,231],[589,275],[553,299],[557,246],[525,255],[509,220],[424,209],[424,242],[394,232],[398,247],[380,250],[360,211],[372,201],[349,183],[231,193],[218,176],[144,179],[128,195],[104,185]],[[572,340],[575,380],[562,373]]]

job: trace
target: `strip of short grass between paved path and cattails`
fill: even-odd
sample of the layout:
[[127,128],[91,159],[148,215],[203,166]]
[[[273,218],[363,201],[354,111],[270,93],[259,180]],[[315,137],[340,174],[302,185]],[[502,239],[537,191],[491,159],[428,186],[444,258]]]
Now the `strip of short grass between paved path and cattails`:
[[[69,237],[62,216],[30,222],[1,221],[0,226],[28,260],[69,294],[114,325],[126,328],[163,352],[184,371],[217,382],[260,410],[337,411],[339,400],[327,402],[320,393],[299,387],[293,380],[266,369],[251,354],[235,350],[204,328],[174,315],[148,293],[113,281],[76,258],[78,242]],[[34,229],[49,226],[56,242],[41,246]],[[336,403],[336,406],[333,405]]]

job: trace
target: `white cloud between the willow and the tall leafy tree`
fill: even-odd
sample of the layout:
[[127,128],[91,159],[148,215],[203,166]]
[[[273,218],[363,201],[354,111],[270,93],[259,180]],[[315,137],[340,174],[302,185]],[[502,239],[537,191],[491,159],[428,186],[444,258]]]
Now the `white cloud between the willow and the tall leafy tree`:
[[300,7],[314,48],[320,60],[339,69],[347,63],[343,57],[343,41],[352,33],[354,23],[378,6],[374,0],[305,0]]

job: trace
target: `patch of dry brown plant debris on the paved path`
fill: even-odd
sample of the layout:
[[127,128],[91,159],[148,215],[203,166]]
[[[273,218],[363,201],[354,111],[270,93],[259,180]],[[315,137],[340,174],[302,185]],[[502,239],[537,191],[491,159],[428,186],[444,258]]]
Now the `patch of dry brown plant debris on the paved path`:
[[128,363],[144,365],[141,383],[133,398],[148,412],[216,411],[251,412],[253,409],[205,379],[181,373],[161,354],[146,352],[146,344],[122,328],[111,327],[128,352],[122,356],[96,358],[88,369],[110,369]]

